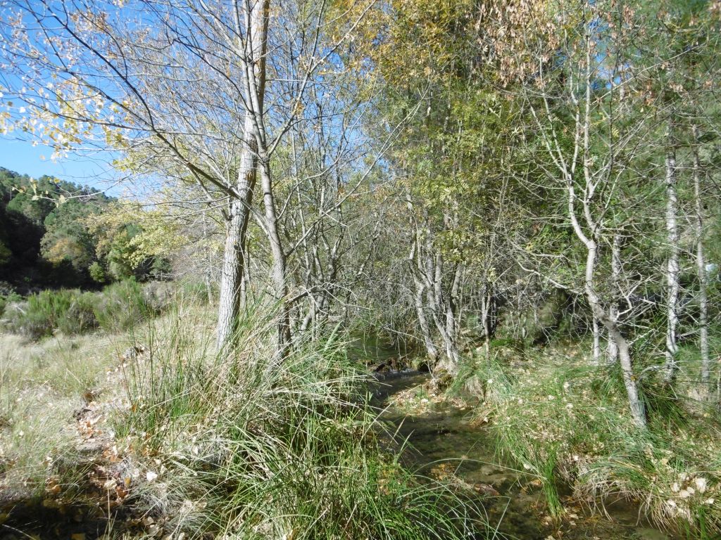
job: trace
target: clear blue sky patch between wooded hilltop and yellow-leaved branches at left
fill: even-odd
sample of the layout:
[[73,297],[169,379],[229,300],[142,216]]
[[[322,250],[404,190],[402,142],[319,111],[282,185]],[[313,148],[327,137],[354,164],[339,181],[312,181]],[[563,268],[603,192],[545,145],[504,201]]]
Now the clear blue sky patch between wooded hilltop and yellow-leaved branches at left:
[[0,167],[33,178],[45,174],[55,176],[61,180],[105,190],[112,196],[120,194],[121,189],[112,182],[112,167],[107,165],[112,157],[110,153],[70,156],[54,162],[50,160],[52,154],[53,149],[48,146],[33,146],[28,141],[0,135]]

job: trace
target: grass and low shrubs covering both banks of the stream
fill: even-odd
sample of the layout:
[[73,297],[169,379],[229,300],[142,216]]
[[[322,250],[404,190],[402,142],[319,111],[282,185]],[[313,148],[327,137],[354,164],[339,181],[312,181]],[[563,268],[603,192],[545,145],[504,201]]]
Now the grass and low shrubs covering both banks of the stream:
[[[497,494],[469,492],[453,473],[417,478],[399,461],[402,452],[381,444],[390,434],[367,402],[366,368],[348,358],[340,336],[299,343],[280,358],[273,306],[254,305],[236,329],[242,346],[218,354],[211,306],[193,287],[164,291],[160,302],[154,287],[129,282],[11,304],[6,323],[16,333],[3,338],[0,371],[9,531],[503,537],[483,510]],[[125,319],[99,330],[82,323],[87,314],[76,320],[67,300],[84,295],[107,296],[96,299],[102,307],[122,302],[110,309]],[[50,336],[35,331],[53,321],[63,326]],[[712,407],[689,408],[663,387],[647,387],[655,421],[641,435],[614,366],[580,360],[578,343],[562,336],[546,348],[513,345],[469,354],[450,383],[418,387],[397,405],[427,408],[429,392],[464,404],[479,440],[490,432],[494,459],[537,482],[554,519],[563,521],[572,501],[602,511],[620,498],[656,526],[715,537],[721,449]],[[368,351],[350,350],[378,364]],[[463,463],[456,459],[452,468]],[[36,508],[45,521],[27,517]]]

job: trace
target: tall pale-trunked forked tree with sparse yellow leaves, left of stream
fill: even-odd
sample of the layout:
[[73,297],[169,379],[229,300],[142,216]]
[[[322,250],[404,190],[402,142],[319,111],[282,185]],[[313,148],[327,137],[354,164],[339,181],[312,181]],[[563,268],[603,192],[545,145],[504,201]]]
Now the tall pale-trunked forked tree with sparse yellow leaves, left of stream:
[[[287,14],[255,0],[4,1],[3,8],[12,73],[3,86],[14,112],[6,129],[42,137],[59,155],[85,143],[124,152],[137,171],[184,171],[210,206],[227,205],[218,343],[230,338],[239,315],[252,214],[273,254],[272,290],[283,306],[279,346],[285,347],[288,277],[271,161],[306,90],[347,40],[348,32],[324,34],[326,4],[298,1]],[[348,31],[353,27],[350,21]],[[276,76],[266,84],[270,63]],[[10,97],[24,105],[15,107]],[[252,206],[255,174],[262,212]]]

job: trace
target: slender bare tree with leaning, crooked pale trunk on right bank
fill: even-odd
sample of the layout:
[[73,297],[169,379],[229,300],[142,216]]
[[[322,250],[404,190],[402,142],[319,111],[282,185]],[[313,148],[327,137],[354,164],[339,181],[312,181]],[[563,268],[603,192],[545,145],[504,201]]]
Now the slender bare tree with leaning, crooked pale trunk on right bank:
[[[598,79],[605,78],[604,58],[598,55],[598,42],[602,38],[595,35],[594,24],[598,14],[594,6],[581,1],[568,6],[566,16],[576,19],[577,30],[565,37],[565,63],[561,68],[563,79],[544,62],[547,55],[539,53],[539,91],[529,93],[528,105],[536,119],[541,144],[547,154],[549,165],[544,171],[549,179],[565,193],[566,216],[575,238],[585,251],[583,263],[582,287],[580,290],[588,302],[590,314],[603,325],[609,341],[618,352],[624,385],[629,400],[632,418],[637,426],[645,426],[646,419],[637,387],[637,374],[634,372],[632,348],[627,336],[619,326],[617,316],[609,310],[614,300],[603,296],[603,279],[598,276],[600,249],[606,235],[607,212],[619,190],[619,181],[624,179],[627,168],[621,159],[622,151],[633,155],[638,144],[637,132],[640,125],[634,125],[623,132],[621,137],[614,136],[619,129],[618,117],[604,109],[604,103],[617,99],[616,89],[603,89],[598,93]],[[613,73],[609,78],[613,77]],[[565,127],[557,120],[559,107],[566,107],[570,119]],[[603,113],[603,114],[601,114]],[[605,118],[606,133],[596,136],[594,126],[599,125],[598,118]],[[614,266],[619,265],[619,251],[614,253]],[[612,272],[613,273],[613,272]],[[578,290],[572,284],[563,284],[546,276],[562,287]],[[619,285],[619,276],[613,276],[611,282]],[[616,290],[611,297],[624,296]],[[628,296],[628,292],[625,293]],[[600,358],[598,329],[594,328],[593,356]]]

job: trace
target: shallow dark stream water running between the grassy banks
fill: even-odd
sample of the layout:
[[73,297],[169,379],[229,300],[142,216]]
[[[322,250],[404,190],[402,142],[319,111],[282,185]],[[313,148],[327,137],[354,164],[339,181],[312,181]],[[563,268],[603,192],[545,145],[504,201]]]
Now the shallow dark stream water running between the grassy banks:
[[470,410],[429,403],[423,413],[405,414],[388,405],[389,397],[428,381],[428,375],[401,372],[379,376],[373,403],[389,431],[407,441],[402,459],[421,476],[440,477],[479,492],[487,520],[498,539],[518,540],[673,540],[639,518],[626,501],[606,503],[607,516],[564,500],[565,517],[554,522],[545,513],[544,495],[534,480],[506,466],[487,428],[472,424]]

